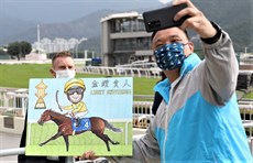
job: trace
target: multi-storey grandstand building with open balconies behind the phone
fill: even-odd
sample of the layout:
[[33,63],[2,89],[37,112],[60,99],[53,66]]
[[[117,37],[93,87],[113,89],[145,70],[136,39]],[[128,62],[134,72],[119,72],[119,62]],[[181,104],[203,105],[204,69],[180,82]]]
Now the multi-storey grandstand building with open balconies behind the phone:
[[152,62],[151,33],[145,31],[138,12],[116,13],[101,19],[101,56],[103,66]]

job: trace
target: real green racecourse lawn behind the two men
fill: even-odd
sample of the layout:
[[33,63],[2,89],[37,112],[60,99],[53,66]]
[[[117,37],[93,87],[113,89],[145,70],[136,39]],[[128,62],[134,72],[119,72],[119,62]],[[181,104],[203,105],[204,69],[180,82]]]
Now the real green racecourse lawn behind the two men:
[[[0,87],[28,88],[30,78],[52,78],[51,64],[0,65]],[[77,74],[77,78],[106,77],[106,75]],[[158,78],[134,77],[134,95],[154,95],[153,87]]]

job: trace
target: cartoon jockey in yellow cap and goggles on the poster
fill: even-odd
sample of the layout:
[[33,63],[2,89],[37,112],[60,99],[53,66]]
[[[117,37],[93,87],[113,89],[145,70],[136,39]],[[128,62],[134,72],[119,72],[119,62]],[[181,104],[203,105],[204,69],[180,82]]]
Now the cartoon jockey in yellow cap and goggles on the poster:
[[76,127],[80,126],[80,119],[88,113],[86,105],[82,100],[86,86],[84,80],[73,78],[65,84],[64,93],[67,95],[70,106],[62,107],[65,110],[72,110],[69,115],[75,118]]

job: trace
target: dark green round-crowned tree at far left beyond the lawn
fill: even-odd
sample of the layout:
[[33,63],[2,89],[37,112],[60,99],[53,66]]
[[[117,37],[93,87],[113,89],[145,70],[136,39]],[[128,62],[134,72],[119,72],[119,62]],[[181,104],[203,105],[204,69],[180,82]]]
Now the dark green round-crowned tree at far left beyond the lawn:
[[20,61],[20,57],[24,57],[26,54],[31,53],[32,45],[29,42],[22,41],[22,42],[13,42],[8,45],[8,54],[10,54],[12,57],[16,56],[18,61]]

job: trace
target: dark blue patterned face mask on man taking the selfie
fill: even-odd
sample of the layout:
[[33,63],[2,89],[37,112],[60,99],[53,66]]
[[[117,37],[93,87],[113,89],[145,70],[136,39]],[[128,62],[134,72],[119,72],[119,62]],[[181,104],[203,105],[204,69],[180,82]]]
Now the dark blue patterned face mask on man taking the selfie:
[[172,70],[183,65],[186,58],[183,43],[165,44],[154,52],[156,64],[163,70]]

